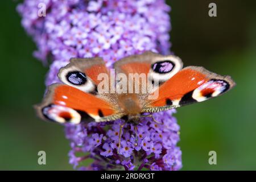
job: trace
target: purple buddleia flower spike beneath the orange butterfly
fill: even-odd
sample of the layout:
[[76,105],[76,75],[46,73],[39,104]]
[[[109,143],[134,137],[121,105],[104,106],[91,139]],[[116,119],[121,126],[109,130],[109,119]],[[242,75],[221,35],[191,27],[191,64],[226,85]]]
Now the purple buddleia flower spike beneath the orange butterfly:
[[[38,16],[39,3],[46,16]],[[50,60],[46,85],[60,82],[57,73],[72,57],[100,56],[111,68],[122,57],[144,51],[170,53],[170,7],[164,0],[24,0],[17,9],[38,47],[34,56],[45,64]],[[172,69],[168,63],[159,66],[162,72]],[[173,113],[154,113],[158,123],[150,117],[137,126],[125,123],[120,146],[121,119],[65,125],[69,163],[79,170],[179,170],[180,128]],[[93,163],[82,166],[86,159]]]

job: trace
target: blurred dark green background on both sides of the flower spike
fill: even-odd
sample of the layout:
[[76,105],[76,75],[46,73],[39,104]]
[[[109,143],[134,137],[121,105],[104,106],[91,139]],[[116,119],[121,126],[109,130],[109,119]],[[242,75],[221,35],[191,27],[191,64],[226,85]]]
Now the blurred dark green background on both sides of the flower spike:
[[[217,17],[208,16],[210,2]],[[63,127],[40,121],[32,105],[42,100],[47,67],[20,25],[17,1],[0,2],[0,169],[72,169]],[[256,3],[174,0],[172,51],[185,66],[230,75],[237,86],[224,96],[177,109],[183,170],[256,169]],[[38,165],[38,151],[47,165]],[[210,166],[208,152],[217,152]]]

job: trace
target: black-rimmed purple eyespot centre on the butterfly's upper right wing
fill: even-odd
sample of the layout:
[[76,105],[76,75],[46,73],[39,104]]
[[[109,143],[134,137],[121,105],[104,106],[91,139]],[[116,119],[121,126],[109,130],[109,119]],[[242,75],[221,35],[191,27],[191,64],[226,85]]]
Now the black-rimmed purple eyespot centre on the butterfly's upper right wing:
[[174,67],[175,64],[170,60],[158,61],[151,65],[153,71],[160,74],[169,73]]

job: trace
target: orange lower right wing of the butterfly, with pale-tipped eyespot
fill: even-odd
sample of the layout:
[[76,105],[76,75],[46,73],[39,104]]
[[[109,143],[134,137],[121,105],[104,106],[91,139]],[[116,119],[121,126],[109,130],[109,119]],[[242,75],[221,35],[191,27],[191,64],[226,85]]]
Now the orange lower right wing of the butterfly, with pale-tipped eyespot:
[[230,76],[220,76],[203,67],[186,67],[164,82],[154,100],[148,100],[143,112],[154,113],[217,97],[232,89],[235,82]]

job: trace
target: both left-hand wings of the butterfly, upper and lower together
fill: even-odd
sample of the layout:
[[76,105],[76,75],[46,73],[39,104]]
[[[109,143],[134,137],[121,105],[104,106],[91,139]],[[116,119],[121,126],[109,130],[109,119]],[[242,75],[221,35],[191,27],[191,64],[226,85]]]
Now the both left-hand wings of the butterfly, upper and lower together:
[[[73,58],[67,66],[60,69],[58,77],[64,84],[49,86],[44,101],[36,106],[39,116],[60,123],[79,123],[93,118],[96,122],[112,121],[122,117],[117,108],[117,95],[98,92],[102,80],[100,74],[109,78],[110,72],[104,60],[99,57]],[[107,81],[109,84],[109,81]],[[110,85],[108,85],[110,89]]]

